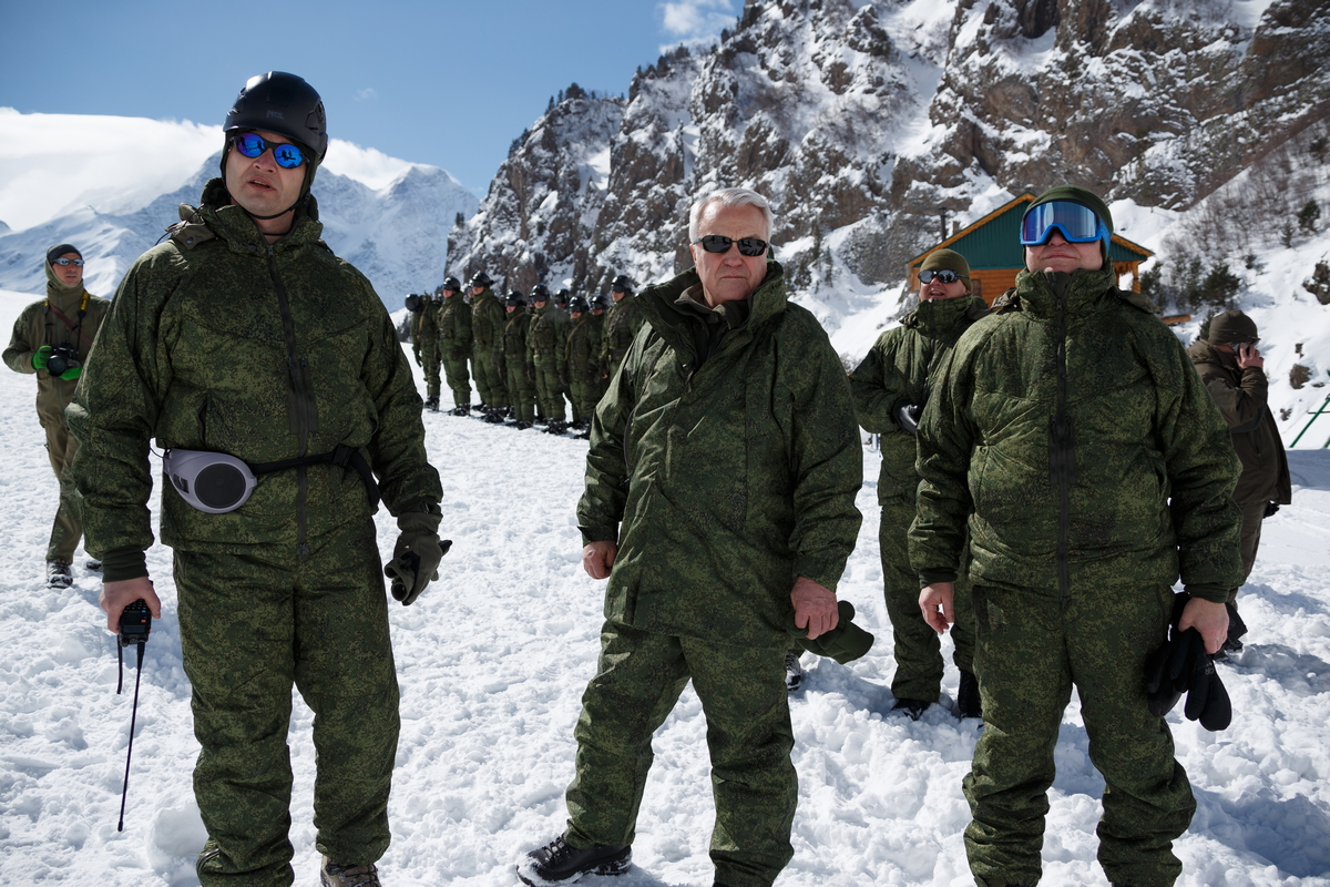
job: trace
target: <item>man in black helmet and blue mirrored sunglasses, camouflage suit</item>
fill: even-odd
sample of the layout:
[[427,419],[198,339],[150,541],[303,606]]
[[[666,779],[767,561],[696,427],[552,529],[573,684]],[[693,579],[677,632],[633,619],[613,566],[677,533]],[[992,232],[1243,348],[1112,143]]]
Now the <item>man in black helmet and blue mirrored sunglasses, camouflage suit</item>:
[[[150,439],[166,451],[161,535],[207,828],[200,882],[293,883],[294,684],[314,710],[321,880],[368,887],[390,840],[399,730],[372,515],[382,497],[398,517],[384,572],[410,604],[442,557],[443,491],[392,320],[319,239],[319,94],[294,74],[253,77],[223,130],[222,178],[116,294],[68,411],[74,476],[114,630],[134,600],[161,616],[145,557]],[[233,489],[245,475],[257,475],[247,499]]]

